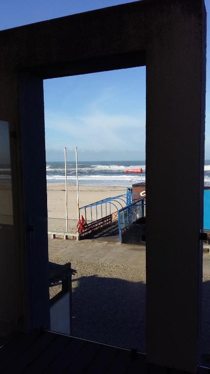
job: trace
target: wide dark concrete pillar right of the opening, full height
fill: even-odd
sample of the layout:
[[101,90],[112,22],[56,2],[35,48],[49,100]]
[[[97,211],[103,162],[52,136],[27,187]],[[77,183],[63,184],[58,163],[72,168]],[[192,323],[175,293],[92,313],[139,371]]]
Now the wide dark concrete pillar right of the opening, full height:
[[[146,67],[147,358],[171,367],[176,361],[176,367],[195,372],[206,20],[201,1],[191,6],[175,1],[170,11],[166,2],[161,4],[157,2],[150,14],[153,37]],[[161,185],[154,183],[157,180]],[[164,196],[164,204],[156,196]]]

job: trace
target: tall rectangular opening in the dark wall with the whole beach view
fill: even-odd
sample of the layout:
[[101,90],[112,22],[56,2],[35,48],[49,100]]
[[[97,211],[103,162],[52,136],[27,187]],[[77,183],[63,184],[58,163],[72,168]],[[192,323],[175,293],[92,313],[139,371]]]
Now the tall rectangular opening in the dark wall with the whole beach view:
[[[70,301],[61,301],[60,310],[52,300],[59,302],[62,281],[50,286],[51,329],[139,352],[145,352],[145,80],[145,67],[138,67],[44,81],[49,261],[75,270]],[[61,327],[64,309],[70,324]]]

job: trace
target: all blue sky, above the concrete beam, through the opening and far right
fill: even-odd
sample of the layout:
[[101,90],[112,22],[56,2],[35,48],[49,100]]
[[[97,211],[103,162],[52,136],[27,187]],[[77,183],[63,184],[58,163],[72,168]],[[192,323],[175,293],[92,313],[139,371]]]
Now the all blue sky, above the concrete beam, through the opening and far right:
[[[131,2],[0,0],[0,30]],[[210,2],[207,8],[206,159],[210,159]],[[143,160],[145,67],[44,81],[46,159]]]

